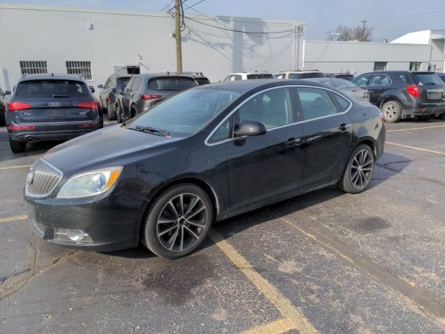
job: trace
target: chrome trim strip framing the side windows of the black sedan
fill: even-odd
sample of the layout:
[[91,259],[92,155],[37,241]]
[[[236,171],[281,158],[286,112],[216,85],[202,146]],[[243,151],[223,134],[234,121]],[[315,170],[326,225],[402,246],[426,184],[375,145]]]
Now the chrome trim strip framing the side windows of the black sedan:
[[[285,124],[285,125],[280,125],[280,127],[273,127],[272,129],[267,129],[266,132],[269,131],[273,131],[275,129],[282,129],[283,127],[289,127],[291,125],[297,125],[297,124],[301,124],[301,123],[305,123],[305,122],[312,122],[313,120],[321,120],[323,118],[328,118],[328,117],[332,117],[332,116],[338,116],[338,115],[344,115],[345,113],[348,113],[348,111],[350,111],[350,109],[353,108],[353,102],[348,98],[345,97],[344,95],[341,95],[339,93],[337,93],[335,90],[332,90],[330,88],[325,88],[325,87],[319,87],[319,86],[311,86],[311,85],[284,85],[284,86],[276,86],[276,87],[270,87],[270,88],[266,88],[264,90],[260,90],[259,92],[255,93],[254,95],[250,96],[248,99],[244,100],[243,102],[241,102],[241,104],[239,104],[234,110],[232,110],[227,116],[225,116],[225,118],[223,118],[223,120],[221,120],[221,122],[218,123],[218,125],[216,125],[216,127],[210,132],[209,136],[207,136],[207,138],[204,141],[204,144],[207,146],[215,146],[215,145],[219,145],[222,143],[227,143],[227,141],[234,141],[235,139],[239,139],[239,138],[245,138],[245,136],[243,137],[232,137],[232,138],[227,138],[223,141],[217,141],[216,143],[209,143],[209,139],[211,138],[211,136],[213,136],[213,134],[216,132],[216,130],[219,129],[219,127],[221,125],[223,125],[223,123],[230,117],[232,116],[234,113],[236,113],[236,111],[238,111],[238,109],[241,108],[241,106],[243,106],[243,104],[245,104],[246,102],[250,101],[250,99],[252,99],[253,97],[267,92],[268,90],[273,90],[273,89],[278,89],[278,88],[298,88],[298,87],[306,87],[306,88],[318,88],[318,89],[324,89],[324,90],[329,90],[330,92],[337,94],[341,97],[343,97],[343,99],[345,99],[346,101],[349,102],[349,107],[348,109],[346,109],[346,111],[342,111],[341,113],[334,113],[333,115],[327,115],[327,116],[321,116],[318,118],[312,118],[311,120],[300,120],[298,122],[293,122],[293,123],[289,123],[289,124]],[[334,101],[332,101],[334,102]]]

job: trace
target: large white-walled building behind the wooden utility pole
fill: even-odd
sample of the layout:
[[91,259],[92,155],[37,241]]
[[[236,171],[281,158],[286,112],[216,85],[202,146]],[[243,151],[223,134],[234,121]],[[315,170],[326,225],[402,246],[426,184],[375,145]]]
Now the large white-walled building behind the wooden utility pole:
[[[303,22],[188,15],[183,69],[211,81],[230,72],[302,66]],[[79,73],[92,86],[116,69],[176,70],[168,13],[0,4],[0,86],[24,72]]]

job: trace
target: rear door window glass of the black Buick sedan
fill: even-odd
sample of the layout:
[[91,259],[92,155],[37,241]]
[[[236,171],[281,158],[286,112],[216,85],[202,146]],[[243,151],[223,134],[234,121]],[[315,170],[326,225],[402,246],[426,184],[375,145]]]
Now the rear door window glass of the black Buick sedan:
[[313,120],[337,113],[337,108],[326,90],[321,88],[298,87],[302,120]]

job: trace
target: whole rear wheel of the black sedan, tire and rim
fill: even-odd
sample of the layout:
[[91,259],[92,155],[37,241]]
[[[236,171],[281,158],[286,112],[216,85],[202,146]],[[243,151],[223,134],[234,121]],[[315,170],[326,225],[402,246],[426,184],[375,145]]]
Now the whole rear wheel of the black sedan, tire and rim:
[[339,181],[339,188],[346,193],[361,193],[371,182],[374,166],[373,150],[368,145],[359,144],[350,154],[348,164]]

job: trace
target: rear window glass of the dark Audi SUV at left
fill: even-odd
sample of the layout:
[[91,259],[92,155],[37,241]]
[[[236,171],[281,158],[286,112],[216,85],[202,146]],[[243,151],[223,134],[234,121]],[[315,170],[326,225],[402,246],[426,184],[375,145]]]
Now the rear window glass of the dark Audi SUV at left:
[[29,80],[17,85],[17,97],[86,97],[90,89],[81,81]]

